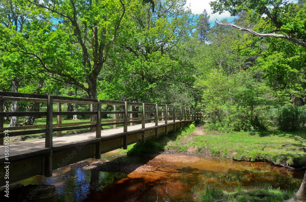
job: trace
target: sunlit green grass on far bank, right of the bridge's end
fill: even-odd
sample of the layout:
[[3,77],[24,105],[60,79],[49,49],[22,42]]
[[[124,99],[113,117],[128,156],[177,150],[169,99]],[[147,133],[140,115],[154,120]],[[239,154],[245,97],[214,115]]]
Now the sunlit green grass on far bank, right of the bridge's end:
[[180,135],[169,142],[169,148],[185,151],[197,146],[197,153],[209,151],[212,157],[236,161],[273,161],[293,167],[306,162],[306,134],[289,132],[215,133],[204,129],[204,135]]

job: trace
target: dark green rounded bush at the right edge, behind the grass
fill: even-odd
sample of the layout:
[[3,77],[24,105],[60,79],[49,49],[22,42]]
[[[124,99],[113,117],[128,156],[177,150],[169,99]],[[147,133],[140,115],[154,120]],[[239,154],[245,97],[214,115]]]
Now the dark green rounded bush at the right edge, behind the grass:
[[277,126],[282,131],[303,132],[306,123],[306,106],[283,106],[277,115]]

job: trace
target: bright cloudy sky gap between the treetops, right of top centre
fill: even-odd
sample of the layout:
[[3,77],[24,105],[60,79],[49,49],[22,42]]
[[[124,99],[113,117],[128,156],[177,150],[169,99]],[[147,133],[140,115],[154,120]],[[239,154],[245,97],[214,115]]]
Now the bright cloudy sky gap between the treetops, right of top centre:
[[[233,17],[230,16],[230,13],[225,12],[219,15],[218,13],[212,14],[211,7],[209,5],[209,2],[212,0],[187,0],[186,6],[190,7],[192,13],[194,14],[201,14],[203,13],[203,10],[206,9],[207,13],[210,15],[209,22],[211,25],[215,24],[215,20],[218,19],[218,21],[227,18],[228,20],[232,20]],[[297,3],[298,0],[290,0],[290,2]]]

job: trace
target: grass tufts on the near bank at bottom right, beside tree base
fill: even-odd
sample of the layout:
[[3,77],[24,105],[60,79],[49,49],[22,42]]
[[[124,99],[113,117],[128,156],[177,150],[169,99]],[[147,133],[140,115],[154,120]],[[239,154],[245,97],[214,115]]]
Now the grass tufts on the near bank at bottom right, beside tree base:
[[281,190],[279,188],[273,189],[271,186],[265,186],[263,189],[256,190],[237,190],[236,192],[225,192],[216,190],[214,187],[209,188],[208,186],[205,190],[198,192],[198,197],[202,202],[211,201],[231,201],[231,202],[280,202],[282,200],[288,200],[291,198],[297,190],[286,189]]

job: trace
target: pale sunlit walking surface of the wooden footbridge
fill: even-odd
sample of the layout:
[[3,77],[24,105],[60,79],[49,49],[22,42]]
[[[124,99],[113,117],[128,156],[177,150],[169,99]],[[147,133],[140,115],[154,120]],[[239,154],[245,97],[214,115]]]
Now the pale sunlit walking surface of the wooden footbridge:
[[[177,121],[180,122],[180,121]],[[168,121],[168,123],[173,123],[173,121]],[[165,121],[159,121],[158,125],[165,124]],[[145,128],[152,128],[155,123],[146,123]],[[128,133],[141,129],[141,124],[128,126]],[[118,135],[123,134],[123,127],[116,129],[107,129],[101,131],[101,139],[112,139],[118,137]],[[60,150],[61,147],[75,145],[77,142],[97,142],[95,132],[86,132],[73,135],[64,135],[61,137],[53,137],[53,150]],[[45,139],[22,141],[9,144],[9,161],[15,161],[20,159],[21,156],[33,156],[35,154],[42,154],[50,152],[50,148],[45,148]],[[4,161],[5,156],[5,146],[0,146],[0,162]]]

